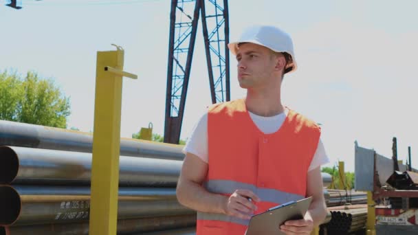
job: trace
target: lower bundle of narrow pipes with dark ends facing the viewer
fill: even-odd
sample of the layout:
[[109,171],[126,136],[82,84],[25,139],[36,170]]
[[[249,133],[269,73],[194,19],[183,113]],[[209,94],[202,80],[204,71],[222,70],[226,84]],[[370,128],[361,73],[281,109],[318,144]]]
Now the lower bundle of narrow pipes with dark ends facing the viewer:
[[364,230],[367,221],[367,205],[347,205],[328,208],[331,221],[327,223],[327,234],[350,234]]

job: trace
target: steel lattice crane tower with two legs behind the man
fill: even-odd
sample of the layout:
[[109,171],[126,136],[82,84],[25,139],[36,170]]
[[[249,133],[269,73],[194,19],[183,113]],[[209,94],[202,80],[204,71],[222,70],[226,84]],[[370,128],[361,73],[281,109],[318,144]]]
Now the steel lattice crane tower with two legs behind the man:
[[212,103],[230,100],[228,0],[172,0],[164,142],[178,144],[201,14]]

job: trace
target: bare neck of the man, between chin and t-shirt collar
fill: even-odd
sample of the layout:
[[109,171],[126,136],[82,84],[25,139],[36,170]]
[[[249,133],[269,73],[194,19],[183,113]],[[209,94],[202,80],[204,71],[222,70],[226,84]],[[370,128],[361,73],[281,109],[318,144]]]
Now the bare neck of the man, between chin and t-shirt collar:
[[272,117],[285,111],[281,103],[281,94],[279,91],[252,91],[247,90],[245,98],[247,110],[263,117]]

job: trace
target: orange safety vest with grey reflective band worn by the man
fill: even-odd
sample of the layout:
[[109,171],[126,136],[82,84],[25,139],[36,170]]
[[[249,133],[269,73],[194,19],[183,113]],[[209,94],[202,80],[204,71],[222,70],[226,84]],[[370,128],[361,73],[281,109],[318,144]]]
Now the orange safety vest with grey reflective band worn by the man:
[[[320,138],[319,126],[292,110],[276,133],[252,122],[245,101],[214,104],[208,111],[209,192],[230,196],[252,190],[261,202],[255,214],[306,196],[307,171]],[[197,235],[243,235],[249,221],[197,212]]]

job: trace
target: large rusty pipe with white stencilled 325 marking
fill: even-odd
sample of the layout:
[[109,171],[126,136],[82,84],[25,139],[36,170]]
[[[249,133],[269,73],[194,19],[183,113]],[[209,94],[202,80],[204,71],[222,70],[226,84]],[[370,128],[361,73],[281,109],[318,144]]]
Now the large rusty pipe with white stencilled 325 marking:
[[[89,219],[90,189],[63,186],[0,186],[0,225],[66,223]],[[194,214],[174,188],[119,188],[118,219]]]

